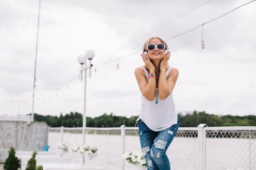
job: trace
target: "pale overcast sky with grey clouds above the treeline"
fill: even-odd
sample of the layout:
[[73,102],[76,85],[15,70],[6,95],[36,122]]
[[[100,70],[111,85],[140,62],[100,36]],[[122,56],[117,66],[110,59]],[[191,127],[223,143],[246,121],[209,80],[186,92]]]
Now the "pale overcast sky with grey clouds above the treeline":
[[[144,42],[152,36],[168,40],[249,2],[207,1],[41,0],[34,112],[83,113],[77,57],[94,49],[86,115],[137,115],[141,94],[134,70],[144,64]],[[0,115],[31,113],[38,6],[39,0],[0,1]],[[167,41],[169,64],[180,72],[173,90],[177,112],[256,114],[255,30],[252,2],[205,24],[204,50],[202,26]],[[127,55],[118,60],[119,69],[117,61],[104,64]]]

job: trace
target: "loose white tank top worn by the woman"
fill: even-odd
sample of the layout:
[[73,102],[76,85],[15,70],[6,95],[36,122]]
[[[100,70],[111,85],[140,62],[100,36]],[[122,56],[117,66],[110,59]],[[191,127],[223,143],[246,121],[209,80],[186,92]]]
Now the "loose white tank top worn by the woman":
[[[148,72],[145,67],[142,67],[148,81]],[[166,79],[171,70],[171,67],[166,72]],[[156,96],[158,96],[158,90],[156,88]],[[177,112],[173,102],[173,92],[164,100],[157,99],[158,103],[155,103],[155,99],[150,102],[141,94],[141,110],[139,118],[153,131],[161,131],[166,128],[177,124]]]

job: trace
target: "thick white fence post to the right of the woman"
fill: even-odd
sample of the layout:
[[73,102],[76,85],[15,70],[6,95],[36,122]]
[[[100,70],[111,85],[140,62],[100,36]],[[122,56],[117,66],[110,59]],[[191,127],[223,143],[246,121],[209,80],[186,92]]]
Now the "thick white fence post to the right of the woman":
[[198,170],[205,170],[205,132],[204,127],[207,127],[206,124],[198,125],[198,148],[199,148],[199,164]]

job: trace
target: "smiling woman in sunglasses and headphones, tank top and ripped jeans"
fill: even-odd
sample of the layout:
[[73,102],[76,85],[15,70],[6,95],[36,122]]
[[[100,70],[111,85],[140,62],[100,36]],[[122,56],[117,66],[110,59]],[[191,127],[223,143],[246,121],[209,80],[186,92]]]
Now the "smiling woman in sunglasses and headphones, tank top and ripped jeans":
[[170,170],[166,150],[179,127],[172,94],[179,71],[168,66],[170,52],[161,38],[147,40],[143,51],[141,57],[145,65],[135,69],[141,91],[141,111],[137,119],[141,151],[148,170]]

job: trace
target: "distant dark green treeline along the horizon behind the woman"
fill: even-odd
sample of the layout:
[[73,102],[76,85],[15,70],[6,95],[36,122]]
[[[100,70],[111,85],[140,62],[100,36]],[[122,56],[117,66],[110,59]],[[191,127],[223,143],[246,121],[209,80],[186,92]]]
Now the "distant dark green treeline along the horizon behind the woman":
[[[256,116],[217,116],[207,114],[205,112],[194,111],[193,113],[186,113],[186,115],[179,113],[180,127],[197,127],[199,124],[207,124],[207,126],[256,126]],[[82,127],[83,115],[81,113],[73,113],[57,116],[43,116],[34,115],[35,121],[45,121],[49,127]],[[86,127],[134,127],[137,116],[130,118],[123,116],[115,116],[104,113],[99,117],[86,117]]]

